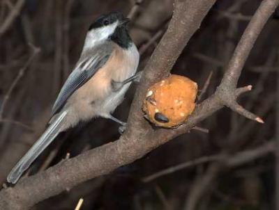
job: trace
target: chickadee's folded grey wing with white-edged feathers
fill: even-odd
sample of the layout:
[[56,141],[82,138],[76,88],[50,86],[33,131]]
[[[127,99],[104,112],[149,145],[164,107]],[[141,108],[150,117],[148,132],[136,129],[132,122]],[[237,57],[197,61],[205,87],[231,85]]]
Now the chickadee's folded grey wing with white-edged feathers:
[[70,95],[80,86],[88,81],[110,58],[112,49],[102,47],[103,49],[94,49],[82,54],[75,70],[70,73],[68,79],[61,88],[59,95],[52,107],[52,115],[56,114],[66,103]]

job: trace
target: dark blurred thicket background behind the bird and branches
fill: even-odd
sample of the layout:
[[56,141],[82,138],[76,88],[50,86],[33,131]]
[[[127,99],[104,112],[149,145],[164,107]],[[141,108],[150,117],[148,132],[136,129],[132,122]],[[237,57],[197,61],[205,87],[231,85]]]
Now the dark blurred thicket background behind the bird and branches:
[[[0,1],[0,29],[20,1]],[[0,106],[10,86],[15,83],[0,115],[0,183],[5,182],[13,165],[43,132],[54,99],[80,55],[93,19],[111,10],[128,15],[131,8],[135,8],[133,0],[22,2],[14,22],[4,33],[0,32]],[[217,1],[184,49],[172,73],[197,81],[199,89],[212,74],[203,99],[211,95],[259,3],[259,0]],[[140,69],[167,27],[172,4],[172,0],[145,0],[140,3],[137,13],[133,13],[130,35],[142,54]],[[28,43],[40,48],[40,53],[27,68],[23,68],[32,54]],[[61,195],[40,202],[33,209],[75,209],[81,197],[84,199],[81,209],[185,209],[199,178],[206,175],[207,168],[214,163],[195,164],[151,181],[144,178],[179,163],[220,154],[228,147],[233,147],[230,151],[234,155],[276,140],[278,55],[277,12],[259,35],[239,81],[239,86],[253,86],[252,92],[243,95],[240,103],[261,116],[264,124],[223,108],[199,124],[199,127],[209,129],[209,134],[193,130],[135,163],[110,175],[65,189]],[[23,72],[20,78],[19,72]],[[136,85],[130,88],[114,116],[121,120],[128,118],[135,88]],[[67,153],[73,157],[116,140],[119,138],[117,129],[117,124],[103,119],[81,124],[60,135],[28,174],[45,170],[64,159]],[[197,209],[274,209],[275,174],[272,154],[220,170],[206,187]]]

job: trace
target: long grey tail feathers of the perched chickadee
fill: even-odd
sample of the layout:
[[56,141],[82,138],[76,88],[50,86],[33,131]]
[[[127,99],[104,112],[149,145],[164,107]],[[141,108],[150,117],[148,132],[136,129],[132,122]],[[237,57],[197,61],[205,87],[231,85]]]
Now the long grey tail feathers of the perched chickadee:
[[10,171],[7,181],[15,184],[20,179],[22,173],[29,168],[31,163],[45,150],[45,148],[52,143],[52,140],[60,133],[61,125],[67,115],[67,111],[63,111],[57,116],[55,120],[47,127],[47,130],[36,141],[31,149],[25,154],[22,159]]

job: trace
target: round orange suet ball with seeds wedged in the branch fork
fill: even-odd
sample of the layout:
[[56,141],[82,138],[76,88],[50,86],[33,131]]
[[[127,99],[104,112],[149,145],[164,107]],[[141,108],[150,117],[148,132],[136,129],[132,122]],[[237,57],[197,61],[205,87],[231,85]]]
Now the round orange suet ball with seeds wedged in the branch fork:
[[142,109],[156,126],[177,127],[193,112],[196,96],[197,83],[172,74],[147,90]]

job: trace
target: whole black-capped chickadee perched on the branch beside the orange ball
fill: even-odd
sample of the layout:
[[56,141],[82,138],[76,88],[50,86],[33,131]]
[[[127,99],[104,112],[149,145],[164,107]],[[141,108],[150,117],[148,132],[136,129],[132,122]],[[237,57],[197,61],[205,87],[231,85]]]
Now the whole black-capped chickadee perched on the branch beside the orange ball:
[[15,184],[59,133],[78,122],[102,117],[125,126],[111,113],[140,75],[136,74],[140,55],[128,34],[129,21],[113,12],[91,24],[80,59],[54,102],[49,127],[11,170],[8,182]]

